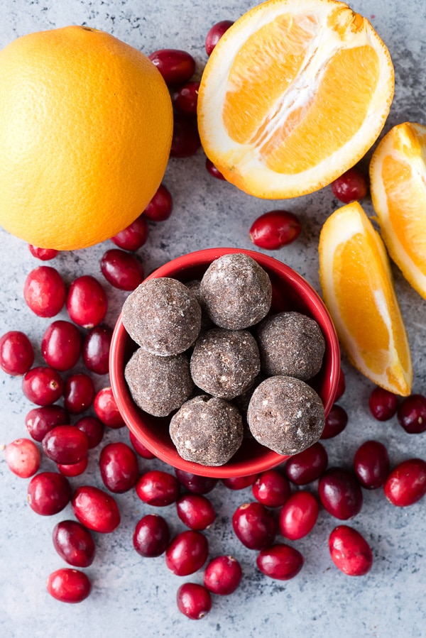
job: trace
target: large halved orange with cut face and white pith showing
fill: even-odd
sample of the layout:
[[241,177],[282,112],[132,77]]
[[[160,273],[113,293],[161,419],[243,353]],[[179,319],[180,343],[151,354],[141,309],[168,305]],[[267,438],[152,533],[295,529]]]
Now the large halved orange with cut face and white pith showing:
[[393,99],[386,45],[335,0],[269,0],[239,18],[207,61],[204,151],[256,197],[313,192],[359,161]]

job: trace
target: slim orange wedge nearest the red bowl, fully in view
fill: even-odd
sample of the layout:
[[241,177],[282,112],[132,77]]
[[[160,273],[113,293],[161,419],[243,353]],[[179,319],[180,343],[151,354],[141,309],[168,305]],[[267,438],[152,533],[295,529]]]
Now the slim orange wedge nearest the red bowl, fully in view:
[[324,302],[349,361],[376,385],[409,395],[413,366],[388,254],[358,202],[325,221],[319,252]]

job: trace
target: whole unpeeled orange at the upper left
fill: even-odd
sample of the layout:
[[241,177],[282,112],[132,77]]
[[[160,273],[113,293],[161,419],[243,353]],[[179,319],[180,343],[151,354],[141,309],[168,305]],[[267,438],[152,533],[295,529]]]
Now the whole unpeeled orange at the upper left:
[[67,26],[0,51],[0,224],[41,248],[114,236],[158,189],[173,133],[170,94],[148,57]]

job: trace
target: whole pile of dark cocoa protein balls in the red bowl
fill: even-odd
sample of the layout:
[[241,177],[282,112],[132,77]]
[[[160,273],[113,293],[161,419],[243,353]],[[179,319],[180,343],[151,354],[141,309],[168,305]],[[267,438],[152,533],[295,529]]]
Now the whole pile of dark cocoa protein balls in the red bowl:
[[124,302],[139,346],[129,390],[148,414],[175,412],[170,436],[185,460],[221,466],[245,435],[285,455],[320,439],[324,407],[306,381],[320,371],[324,336],[305,314],[271,314],[271,299],[265,270],[231,253],[200,281],[148,279]]

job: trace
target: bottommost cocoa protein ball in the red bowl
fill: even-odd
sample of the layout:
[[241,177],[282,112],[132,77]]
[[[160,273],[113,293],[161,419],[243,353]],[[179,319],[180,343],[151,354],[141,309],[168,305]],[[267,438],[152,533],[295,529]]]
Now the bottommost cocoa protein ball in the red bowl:
[[234,405],[200,395],[185,402],[173,415],[170,436],[185,461],[222,466],[241,446],[243,422]]

